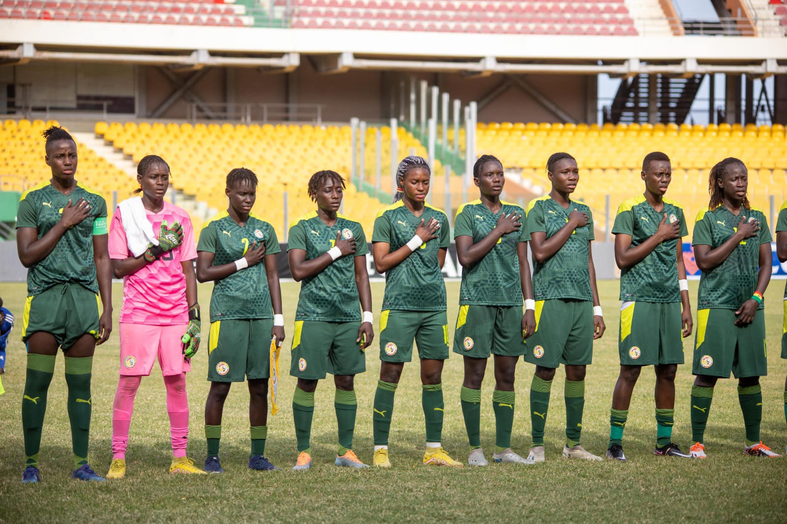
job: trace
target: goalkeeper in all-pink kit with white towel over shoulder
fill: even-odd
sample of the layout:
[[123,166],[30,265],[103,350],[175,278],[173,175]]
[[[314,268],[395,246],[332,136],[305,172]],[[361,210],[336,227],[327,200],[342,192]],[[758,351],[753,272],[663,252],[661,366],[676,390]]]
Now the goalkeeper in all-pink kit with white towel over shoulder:
[[[186,372],[199,346],[200,316],[194,262],[194,230],[187,212],[164,200],[169,186],[169,166],[163,158],[148,155],[137,165],[142,197],[120,202],[109,224],[109,258],[116,279],[123,279],[120,310],[120,382],[112,415],[112,464],[106,478],[124,478],[128,426],[134,398],[143,376],[150,375],[158,359],[167,389],[169,435],[172,443],[170,473],[205,473],[186,457],[189,404]],[[147,220],[157,235],[148,243],[142,227]],[[168,226],[171,224],[171,227]],[[141,242],[137,242],[137,238]],[[142,251],[144,249],[144,251]],[[142,253],[140,253],[142,251]],[[194,335],[194,345],[182,343]],[[191,337],[190,337],[191,339]]]

